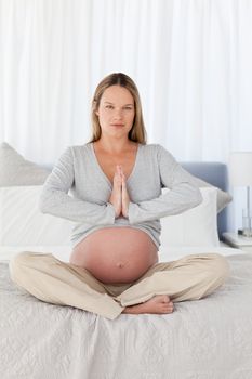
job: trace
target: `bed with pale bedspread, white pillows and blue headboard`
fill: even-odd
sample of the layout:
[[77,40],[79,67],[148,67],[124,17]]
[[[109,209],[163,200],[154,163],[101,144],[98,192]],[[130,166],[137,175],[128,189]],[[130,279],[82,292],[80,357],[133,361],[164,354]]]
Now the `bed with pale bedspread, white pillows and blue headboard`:
[[[221,210],[224,205],[220,204],[226,182],[220,183],[220,178],[225,178],[226,167],[214,162],[183,166],[196,175],[198,184],[207,181],[213,187],[202,188],[200,211],[163,219],[160,261],[187,253],[218,252],[227,257],[231,276],[204,299],[175,303],[175,311],[169,315],[121,314],[109,321],[71,306],[44,303],[15,286],[9,276],[10,259],[18,251],[30,250],[53,252],[67,260],[69,240],[53,240],[52,235],[64,231],[61,236],[65,236],[71,225],[35,215],[40,184],[2,186],[0,378],[252,378],[252,257],[220,244],[226,227],[225,209]],[[15,219],[14,210],[8,213],[14,206],[22,209]],[[42,234],[27,232],[27,239],[22,240],[19,230],[24,235],[28,227],[24,220],[39,224]]]

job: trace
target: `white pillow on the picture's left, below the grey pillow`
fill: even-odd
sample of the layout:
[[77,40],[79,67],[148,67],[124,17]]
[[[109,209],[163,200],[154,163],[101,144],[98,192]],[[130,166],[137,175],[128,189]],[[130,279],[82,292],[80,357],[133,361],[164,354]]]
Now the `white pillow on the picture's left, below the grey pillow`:
[[75,223],[41,213],[41,191],[42,185],[0,188],[0,245],[70,246]]

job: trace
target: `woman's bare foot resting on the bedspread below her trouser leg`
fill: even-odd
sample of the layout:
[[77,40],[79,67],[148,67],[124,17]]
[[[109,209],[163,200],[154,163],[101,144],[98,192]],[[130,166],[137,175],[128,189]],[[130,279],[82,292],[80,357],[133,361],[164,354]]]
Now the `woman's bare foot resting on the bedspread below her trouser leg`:
[[172,313],[173,302],[168,295],[156,295],[154,298],[144,303],[127,306],[122,313],[141,314],[141,313]]

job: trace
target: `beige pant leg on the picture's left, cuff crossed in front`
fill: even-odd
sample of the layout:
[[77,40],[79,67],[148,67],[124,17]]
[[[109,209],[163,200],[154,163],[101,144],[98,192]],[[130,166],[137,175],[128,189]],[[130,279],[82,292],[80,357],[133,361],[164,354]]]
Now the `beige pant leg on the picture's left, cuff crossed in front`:
[[11,260],[10,273],[13,282],[42,301],[71,305],[110,319],[123,311],[88,270],[62,262],[51,253],[21,252]]

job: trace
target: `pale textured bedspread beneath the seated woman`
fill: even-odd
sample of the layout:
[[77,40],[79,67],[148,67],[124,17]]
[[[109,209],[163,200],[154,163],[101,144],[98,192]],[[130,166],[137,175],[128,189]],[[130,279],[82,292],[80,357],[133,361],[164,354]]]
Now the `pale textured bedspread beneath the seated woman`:
[[0,378],[251,379],[252,254],[234,250],[231,277],[208,298],[115,321],[37,300],[0,262]]

